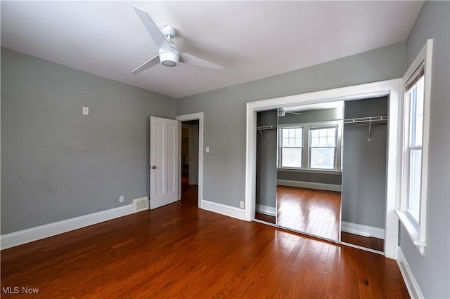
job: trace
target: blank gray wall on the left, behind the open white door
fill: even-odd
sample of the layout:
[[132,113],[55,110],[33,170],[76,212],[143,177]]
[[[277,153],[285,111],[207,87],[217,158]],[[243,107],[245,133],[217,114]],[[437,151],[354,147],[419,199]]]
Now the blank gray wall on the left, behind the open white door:
[[[82,107],[89,115],[82,115]],[[176,100],[1,49],[1,234],[148,196],[150,115]],[[124,195],[123,204],[115,202]]]

